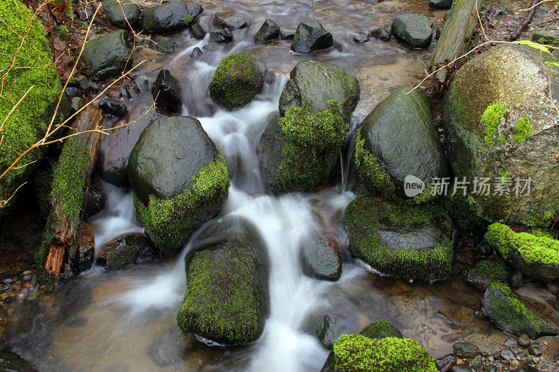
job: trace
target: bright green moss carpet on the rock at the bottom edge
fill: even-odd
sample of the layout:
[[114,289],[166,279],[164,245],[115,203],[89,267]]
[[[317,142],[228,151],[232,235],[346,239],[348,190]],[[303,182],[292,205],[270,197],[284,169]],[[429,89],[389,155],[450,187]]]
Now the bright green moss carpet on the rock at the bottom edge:
[[334,344],[334,358],[341,372],[437,372],[433,357],[409,338],[342,334]]

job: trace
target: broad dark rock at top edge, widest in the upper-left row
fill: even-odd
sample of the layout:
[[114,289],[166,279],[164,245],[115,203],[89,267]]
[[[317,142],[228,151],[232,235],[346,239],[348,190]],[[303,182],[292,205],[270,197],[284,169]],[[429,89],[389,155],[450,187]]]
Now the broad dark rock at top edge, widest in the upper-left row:
[[168,34],[189,27],[200,17],[203,8],[196,3],[170,1],[144,10],[142,29],[146,34]]

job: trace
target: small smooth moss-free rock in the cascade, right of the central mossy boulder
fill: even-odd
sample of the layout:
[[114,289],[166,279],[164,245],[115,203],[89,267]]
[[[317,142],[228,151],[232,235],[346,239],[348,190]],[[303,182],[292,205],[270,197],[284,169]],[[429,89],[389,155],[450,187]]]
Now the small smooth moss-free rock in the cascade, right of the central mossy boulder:
[[319,232],[305,239],[299,260],[303,272],[311,278],[337,281],[342,276],[342,254],[331,232]]

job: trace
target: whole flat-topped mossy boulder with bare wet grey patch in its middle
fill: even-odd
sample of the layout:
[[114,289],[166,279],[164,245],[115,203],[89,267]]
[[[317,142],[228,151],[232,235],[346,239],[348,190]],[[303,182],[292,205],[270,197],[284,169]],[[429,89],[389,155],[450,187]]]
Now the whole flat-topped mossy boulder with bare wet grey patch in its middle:
[[449,277],[454,228],[440,207],[412,207],[363,195],[344,214],[349,250],[372,269],[421,281]]

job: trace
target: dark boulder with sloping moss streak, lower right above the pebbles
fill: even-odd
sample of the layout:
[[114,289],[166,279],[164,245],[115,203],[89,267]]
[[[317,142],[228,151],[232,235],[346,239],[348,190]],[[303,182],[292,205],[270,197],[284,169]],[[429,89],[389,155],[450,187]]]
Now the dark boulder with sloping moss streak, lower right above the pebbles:
[[551,325],[526,307],[508,285],[495,281],[488,286],[481,299],[481,311],[504,332],[520,336],[528,334],[532,340],[542,336],[557,336],[558,325]]

